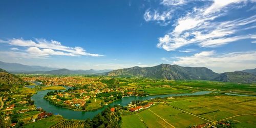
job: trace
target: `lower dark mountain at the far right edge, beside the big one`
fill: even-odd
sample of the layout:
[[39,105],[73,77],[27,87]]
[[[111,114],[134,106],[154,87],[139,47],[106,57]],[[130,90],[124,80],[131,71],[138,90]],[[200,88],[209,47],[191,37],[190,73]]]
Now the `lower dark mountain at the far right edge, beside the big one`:
[[252,83],[256,82],[256,75],[241,71],[225,72],[214,80],[223,82]]

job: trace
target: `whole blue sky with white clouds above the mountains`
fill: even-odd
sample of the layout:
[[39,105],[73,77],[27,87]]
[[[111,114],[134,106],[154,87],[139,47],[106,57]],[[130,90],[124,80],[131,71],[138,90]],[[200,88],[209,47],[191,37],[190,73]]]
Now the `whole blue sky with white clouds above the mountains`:
[[1,1],[0,60],[68,69],[256,68],[256,1]]

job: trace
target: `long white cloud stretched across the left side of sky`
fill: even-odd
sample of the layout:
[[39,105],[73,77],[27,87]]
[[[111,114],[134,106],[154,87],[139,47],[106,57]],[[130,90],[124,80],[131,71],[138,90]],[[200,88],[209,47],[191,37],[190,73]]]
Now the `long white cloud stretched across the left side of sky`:
[[[56,40],[46,40],[46,39],[35,39],[25,40],[23,38],[13,38],[3,42],[11,45],[26,48],[27,50],[22,50],[28,57],[50,57],[52,55],[58,56],[94,56],[100,57],[103,55],[87,53],[81,47],[67,47],[61,45],[59,41]],[[19,50],[18,48],[11,48],[11,50]]]

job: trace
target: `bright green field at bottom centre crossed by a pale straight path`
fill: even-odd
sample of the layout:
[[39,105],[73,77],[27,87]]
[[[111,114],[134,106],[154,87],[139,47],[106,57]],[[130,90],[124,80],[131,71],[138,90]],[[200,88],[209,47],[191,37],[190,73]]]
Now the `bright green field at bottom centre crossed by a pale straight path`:
[[122,127],[144,127],[145,125],[147,127],[172,127],[172,125],[175,127],[188,127],[205,122],[200,118],[176,110],[166,104],[155,105],[137,114],[122,116],[122,120]]

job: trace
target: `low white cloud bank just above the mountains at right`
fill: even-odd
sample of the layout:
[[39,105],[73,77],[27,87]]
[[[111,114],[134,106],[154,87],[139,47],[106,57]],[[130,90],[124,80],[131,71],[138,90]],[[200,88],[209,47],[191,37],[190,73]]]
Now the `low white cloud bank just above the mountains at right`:
[[232,52],[217,54],[215,51],[203,51],[191,56],[176,57],[177,60],[171,61],[162,58],[173,65],[189,67],[207,67],[216,72],[230,72],[235,70],[256,68],[256,51],[252,52]]

